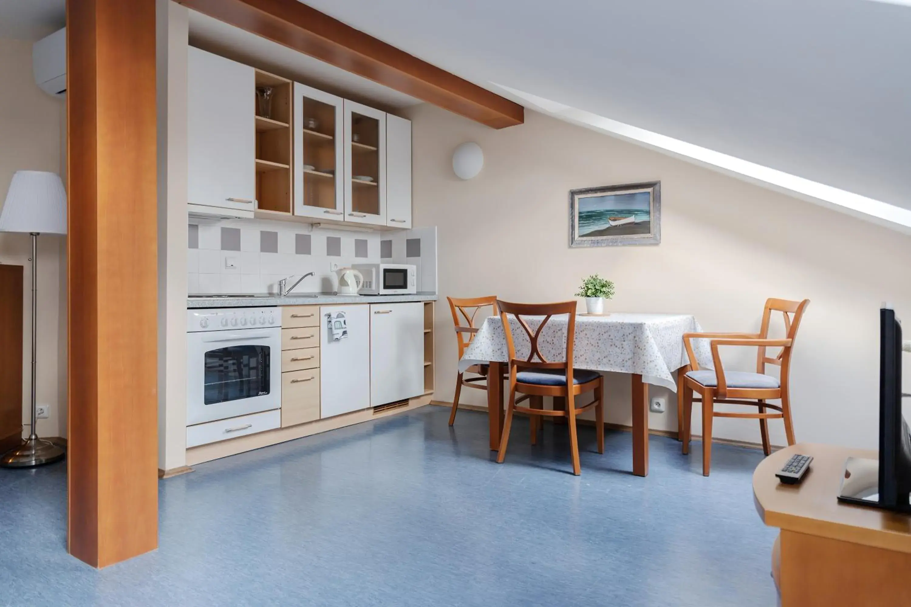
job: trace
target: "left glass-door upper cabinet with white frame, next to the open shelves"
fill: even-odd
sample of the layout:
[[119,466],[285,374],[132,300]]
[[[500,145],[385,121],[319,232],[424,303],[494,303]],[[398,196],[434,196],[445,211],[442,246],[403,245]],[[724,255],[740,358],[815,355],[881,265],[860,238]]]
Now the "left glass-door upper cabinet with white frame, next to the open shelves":
[[342,97],[294,83],[294,215],[344,218]]

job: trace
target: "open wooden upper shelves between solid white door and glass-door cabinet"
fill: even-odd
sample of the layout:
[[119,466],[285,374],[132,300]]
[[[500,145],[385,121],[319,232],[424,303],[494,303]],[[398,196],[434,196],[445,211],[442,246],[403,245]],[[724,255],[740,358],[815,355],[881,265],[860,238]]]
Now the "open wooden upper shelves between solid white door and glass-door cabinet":
[[255,70],[256,87],[272,89],[271,111],[262,116],[256,91],[256,199],[260,210],[292,212],[292,81]]

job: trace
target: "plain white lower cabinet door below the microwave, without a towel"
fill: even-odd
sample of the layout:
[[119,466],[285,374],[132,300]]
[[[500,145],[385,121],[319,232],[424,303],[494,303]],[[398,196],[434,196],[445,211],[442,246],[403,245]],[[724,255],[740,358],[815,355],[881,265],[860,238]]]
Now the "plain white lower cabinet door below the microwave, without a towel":
[[424,363],[424,304],[371,304],[371,406],[420,396]]

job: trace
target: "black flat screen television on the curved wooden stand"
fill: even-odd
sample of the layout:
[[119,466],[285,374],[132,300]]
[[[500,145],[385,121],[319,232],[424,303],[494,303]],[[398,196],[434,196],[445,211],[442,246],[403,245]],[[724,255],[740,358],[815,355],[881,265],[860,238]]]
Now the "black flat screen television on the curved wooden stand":
[[838,499],[911,512],[911,431],[902,415],[902,326],[879,310],[879,460],[848,458]]

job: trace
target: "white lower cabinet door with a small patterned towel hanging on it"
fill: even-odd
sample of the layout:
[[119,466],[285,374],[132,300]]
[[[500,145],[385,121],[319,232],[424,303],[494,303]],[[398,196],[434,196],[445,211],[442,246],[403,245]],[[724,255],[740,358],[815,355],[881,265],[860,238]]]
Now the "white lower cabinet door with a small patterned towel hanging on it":
[[[327,314],[344,312],[348,337],[333,341]],[[370,306],[320,307],[322,419],[370,407]]]

